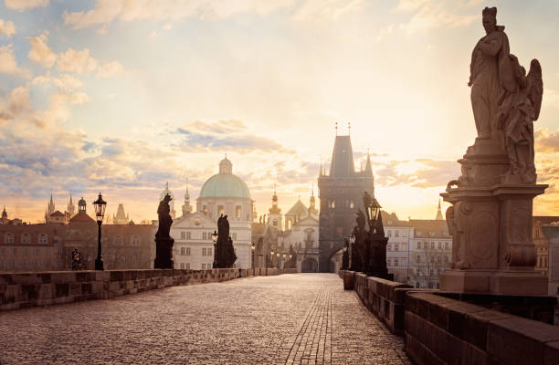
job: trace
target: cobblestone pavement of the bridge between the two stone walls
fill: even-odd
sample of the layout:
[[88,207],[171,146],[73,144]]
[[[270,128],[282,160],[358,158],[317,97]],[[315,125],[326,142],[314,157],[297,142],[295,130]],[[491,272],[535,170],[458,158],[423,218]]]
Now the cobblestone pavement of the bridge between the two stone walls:
[[0,364],[410,364],[333,274],[0,313]]

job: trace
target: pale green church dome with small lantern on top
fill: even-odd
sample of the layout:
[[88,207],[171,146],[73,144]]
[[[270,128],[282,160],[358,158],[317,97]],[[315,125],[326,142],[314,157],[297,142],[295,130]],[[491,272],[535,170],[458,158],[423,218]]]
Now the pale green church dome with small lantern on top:
[[204,183],[199,197],[250,199],[250,192],[247,184],[233,174],[232,164],[226,158],[219,163],[219,173],[216,173]]

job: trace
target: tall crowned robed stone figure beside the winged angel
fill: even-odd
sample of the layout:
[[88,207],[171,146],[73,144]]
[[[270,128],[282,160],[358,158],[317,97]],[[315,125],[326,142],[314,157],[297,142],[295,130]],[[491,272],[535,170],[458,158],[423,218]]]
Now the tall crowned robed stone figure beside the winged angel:
[[478,138],[482,140],[499,138],[497,110],[501,86],[501,60],[509,56],[509,38],[504,26],[497,26],[497,8],[486,7],[482,11],[483,36],[471,53],[469,83],[471,87],[471,108],[476,121]]

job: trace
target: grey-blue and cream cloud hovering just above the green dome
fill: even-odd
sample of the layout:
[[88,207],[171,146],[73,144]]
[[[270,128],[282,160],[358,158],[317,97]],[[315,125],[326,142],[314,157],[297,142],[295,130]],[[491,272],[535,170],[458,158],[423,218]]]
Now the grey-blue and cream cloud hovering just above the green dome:
[[216,151],[216,149],[239,152],[292,152],[276,141],[249,133],[247,130],[245,123],[239,120],[195,121],[175,130],[182,136],[182,141],[177,147],[194,153]]

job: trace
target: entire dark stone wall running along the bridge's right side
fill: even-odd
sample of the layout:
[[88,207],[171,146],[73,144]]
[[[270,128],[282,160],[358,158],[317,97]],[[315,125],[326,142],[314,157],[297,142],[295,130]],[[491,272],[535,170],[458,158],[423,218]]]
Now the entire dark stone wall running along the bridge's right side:
[[406,352],[419,365],[559,363],[559,327],[491,310],[493,297],[484,306],[479,298],[472,304],[362,273],[340,276],[353,277],[364,306],[406,339]]

